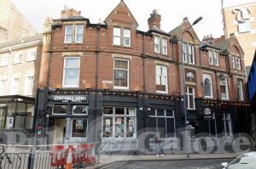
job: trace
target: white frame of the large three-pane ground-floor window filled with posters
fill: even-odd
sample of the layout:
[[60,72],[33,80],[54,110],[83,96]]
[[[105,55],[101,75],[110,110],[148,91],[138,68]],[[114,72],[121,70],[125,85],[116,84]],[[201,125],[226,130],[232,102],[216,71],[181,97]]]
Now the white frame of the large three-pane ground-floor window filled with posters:
[[[112,107],[112,106],[105,106],[105,107],[111,107],[112,108],[112,110],[113,110],[113,114],[111,114],[111,115],[108,115],[108,114],[104,114],[104,112],[102,111],[102,138],[103,138],[103,125],[104,125],[104,117],[107,117],[107,118],[112,118],[112,137],[111,137],[111,139],[134,139],[134,138],[137,138],[137,109],[136,108],[134,108],[134,107],[119,107],[119,106],[116,106],[116,107]],[[115,114],[115,109],[116,108],[124,108],[125,109],[125,114],[124,115],[116,115]],[[135,112],[135,115],[127,115],[127,109],[133,109],[134,110],[134,112]],[[124,138],[116,138],[115,137],[115,119],[116,119],[116,117],[123,117],[124,118]],[[134,136],[133,137],[131,137],[131,138],[127,138],[126,137],[126,135],[127,135],[127,129],[126,129],[126,126],[127,126],[127,124],[126,124],[126,119],[127,119],[127,117],[133,117],[134,119],[135,119],[135,124],[134,124],[134,127],[135,127],[135,129],[134,129]],[[106,139],[106,138],[105,138]]]

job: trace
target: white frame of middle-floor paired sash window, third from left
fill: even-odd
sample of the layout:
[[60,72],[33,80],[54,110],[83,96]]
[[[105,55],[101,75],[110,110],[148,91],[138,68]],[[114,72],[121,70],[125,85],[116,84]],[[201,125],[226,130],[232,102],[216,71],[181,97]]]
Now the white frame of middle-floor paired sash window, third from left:
[[[160,75],[157,74],[158,69],[160,69]],[[165,70],[166,75],[164,75]],[[168,67],[166,65],[155,65],[155,85],[162,85],[157,82],[158,76],[160,76],[160,83],[162,82],[162,78],[166,78],[166,91],[156,90],[156,93],[168,93]]]

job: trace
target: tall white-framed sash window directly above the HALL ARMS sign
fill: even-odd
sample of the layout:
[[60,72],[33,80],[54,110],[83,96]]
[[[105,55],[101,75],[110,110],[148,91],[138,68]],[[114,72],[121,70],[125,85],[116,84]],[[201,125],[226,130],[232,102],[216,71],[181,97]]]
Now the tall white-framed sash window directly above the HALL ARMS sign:
[[66,57],[64,59],[63,87],[79,87],[80,58]]

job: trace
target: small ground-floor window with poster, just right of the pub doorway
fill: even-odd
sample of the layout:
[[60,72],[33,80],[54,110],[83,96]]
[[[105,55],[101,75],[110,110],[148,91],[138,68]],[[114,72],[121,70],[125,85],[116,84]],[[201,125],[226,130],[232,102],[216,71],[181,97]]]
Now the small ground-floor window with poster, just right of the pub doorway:
[[73,119],[72,120],[72,138],[87,138],[87,119]]

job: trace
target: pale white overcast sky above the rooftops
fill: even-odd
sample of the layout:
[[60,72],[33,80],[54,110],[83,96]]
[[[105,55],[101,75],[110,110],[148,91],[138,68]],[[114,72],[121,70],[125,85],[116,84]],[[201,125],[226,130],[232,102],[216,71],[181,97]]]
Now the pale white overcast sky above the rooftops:
[[[26,19],[38,32],[43,31],[44,20],[49,16],[60,18],[61,9],[80,10],[82,15],[90,19],[90,23],[105,20],[108,14],[116,7],[120,0],[12,0]],[[255,2],[256,0],[254,0]],[[224,0],[224,6],[235,6],[239,3],[253,2],[253,0]],[[190,23],[202,16],[203,20],[194,26],[198,36],[212,34],[220,37],[223,34],[221,16],[221,0],[125,0],[131,13],[137,20],[141,31],[148,31],[148,17],[158,9],[161,14],[161,29],[171,31],[179,25],[184,17]]]

